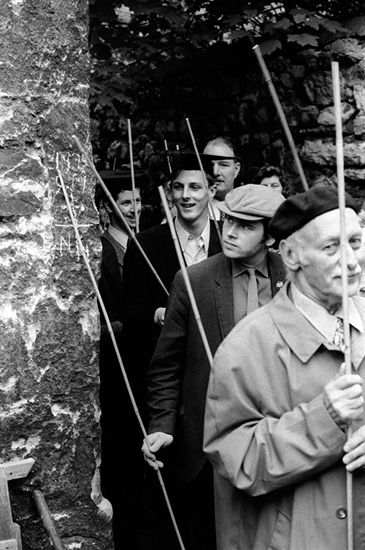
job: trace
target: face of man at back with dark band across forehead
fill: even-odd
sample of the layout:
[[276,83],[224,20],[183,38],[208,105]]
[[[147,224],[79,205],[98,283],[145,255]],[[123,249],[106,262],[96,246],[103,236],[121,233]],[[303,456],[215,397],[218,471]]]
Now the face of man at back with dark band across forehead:
[[[218,143],[207,145],[204,149],[204,154],[232,157],[233,151],[227,145]],[[226,194],[233,189],[234,180],[240,171],[240,163],[233,159],[222,159],[213,160],[212,164],[214,182],[217,184],[215,196],[219,201],[222,201]]]

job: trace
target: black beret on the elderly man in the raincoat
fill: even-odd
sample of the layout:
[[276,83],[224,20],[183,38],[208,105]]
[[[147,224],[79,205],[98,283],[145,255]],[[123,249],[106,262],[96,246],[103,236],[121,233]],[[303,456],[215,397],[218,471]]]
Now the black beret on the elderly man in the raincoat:
[[[346,207],[358,212],[355,200],[345,193]],[[269,233],[277,241],[286,239],[308,222],[338,208],[337,189],[328,185],[315,185],[309,191],[286,199],[269,223]]]

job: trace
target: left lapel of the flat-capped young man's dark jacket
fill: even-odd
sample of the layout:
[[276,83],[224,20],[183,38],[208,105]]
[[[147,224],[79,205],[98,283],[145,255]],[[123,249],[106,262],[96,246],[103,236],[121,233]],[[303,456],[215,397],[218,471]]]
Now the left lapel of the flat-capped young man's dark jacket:
[[233,328],[233,290],[230,260],[223,254],[220,258],[215,277],[214,299],[223,339]]

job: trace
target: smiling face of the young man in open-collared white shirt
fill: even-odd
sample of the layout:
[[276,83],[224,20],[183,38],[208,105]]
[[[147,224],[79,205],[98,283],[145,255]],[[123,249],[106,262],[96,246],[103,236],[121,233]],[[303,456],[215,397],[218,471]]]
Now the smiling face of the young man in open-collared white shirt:
[[214,197],[214,186],[208,191],[200,170],[181,170],[171,184],[172,200],[180,223],[185,227],[207,215],[209,195]]

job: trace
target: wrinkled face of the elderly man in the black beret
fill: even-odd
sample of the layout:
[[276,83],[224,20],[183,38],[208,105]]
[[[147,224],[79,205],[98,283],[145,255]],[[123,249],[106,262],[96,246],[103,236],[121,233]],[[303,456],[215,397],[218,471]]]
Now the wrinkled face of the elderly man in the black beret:
[[[360,285],[365,249],[356,213],[351,208],[346,208],[345,213],[348,295],[354,296]],[[328,309],[342,299],[340,211],[332,210],[314,218],[300,230],[300,235],[298,286]]]

